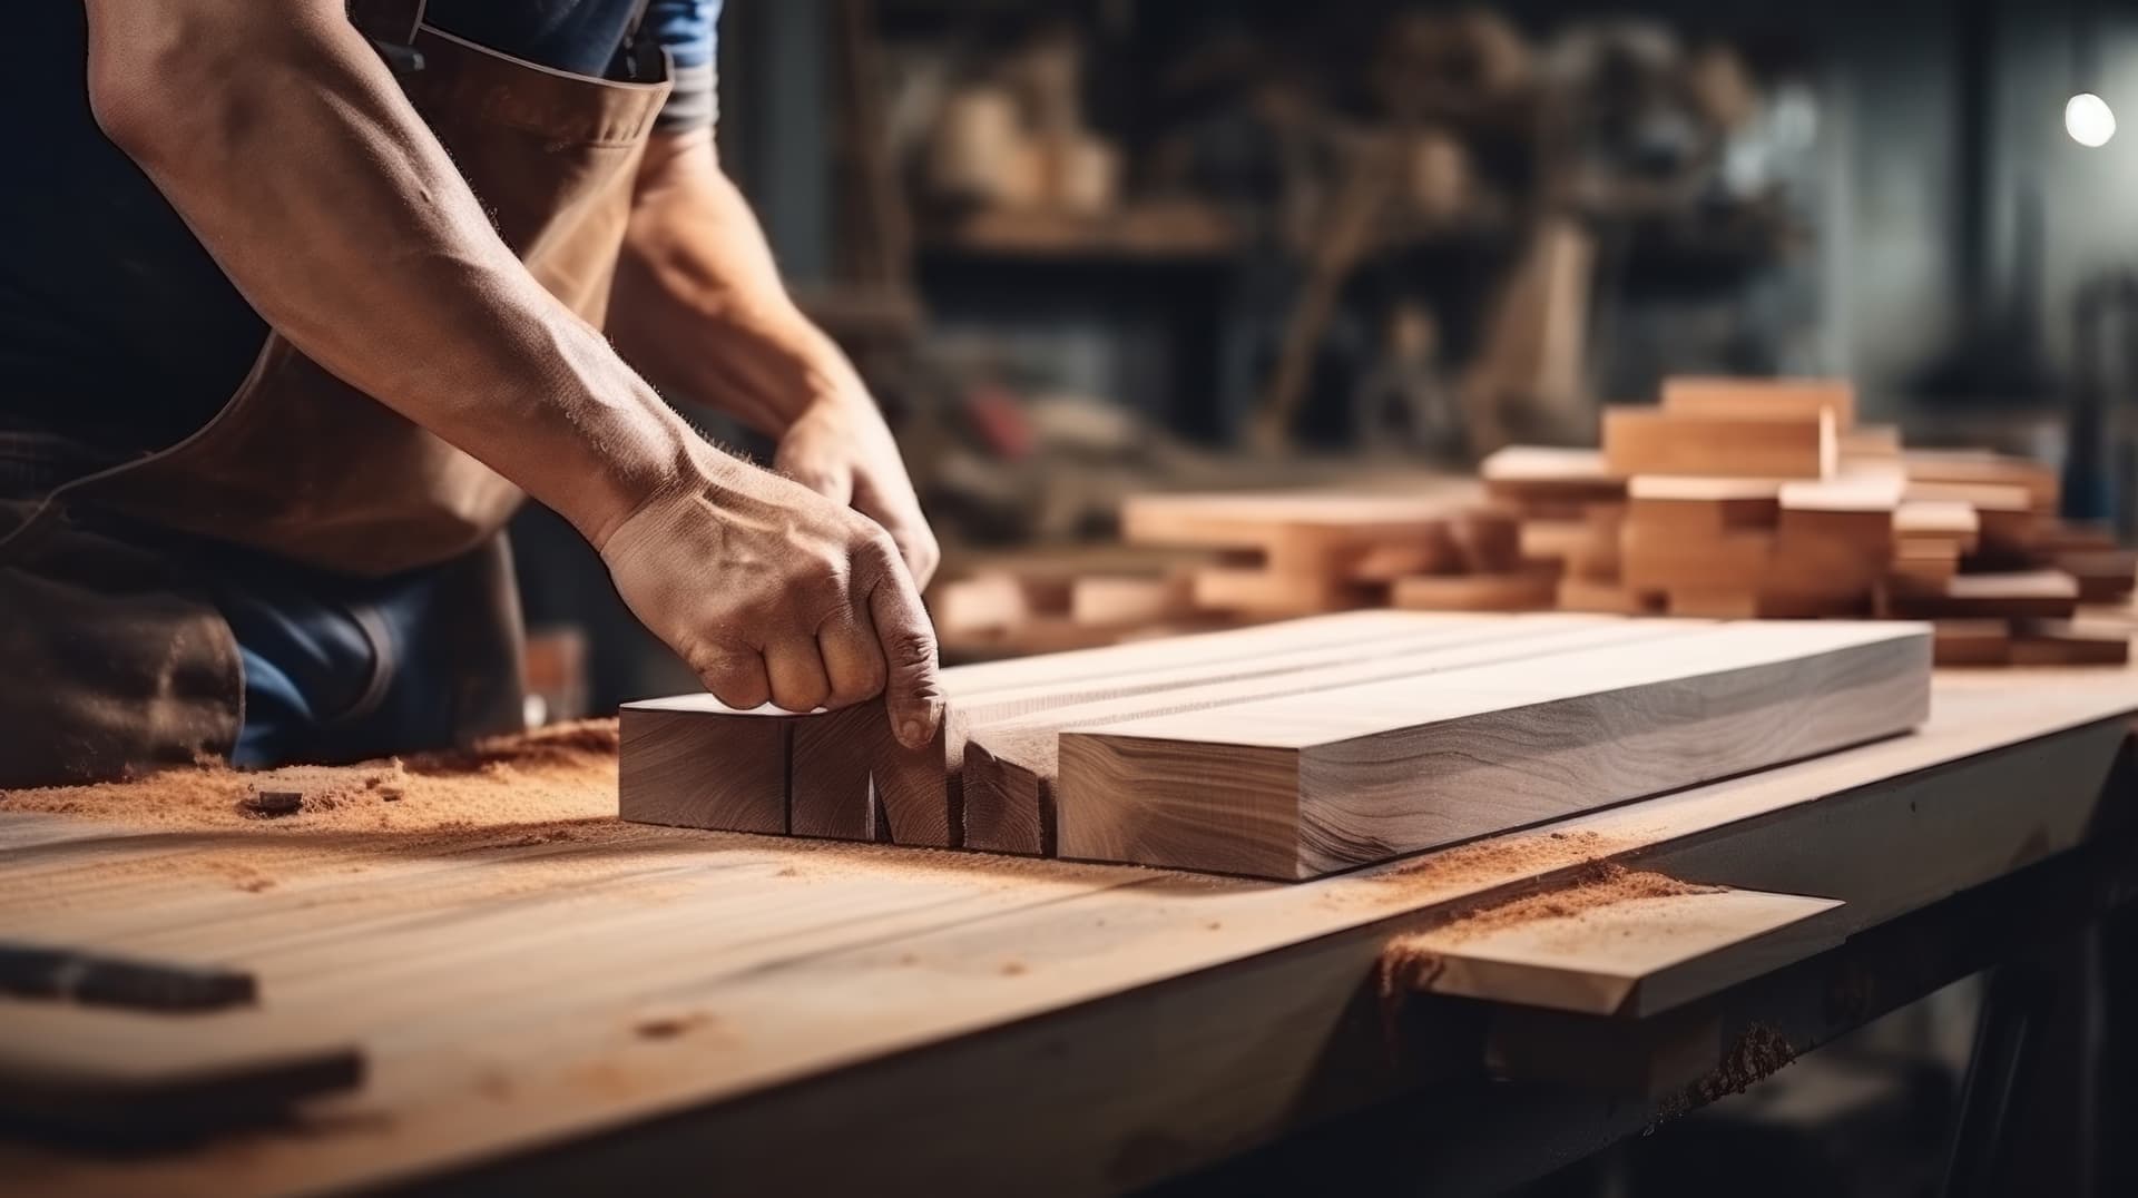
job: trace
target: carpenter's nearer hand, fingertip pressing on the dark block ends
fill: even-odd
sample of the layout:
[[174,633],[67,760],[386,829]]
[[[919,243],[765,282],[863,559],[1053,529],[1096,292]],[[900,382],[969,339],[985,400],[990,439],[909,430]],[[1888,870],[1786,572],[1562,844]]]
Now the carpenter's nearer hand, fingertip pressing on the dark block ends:
[[631,612],[731,708],[881,693],[892,734],[926,744],[943,719],[934,629],[892,537],[800,483],[706,458],[599,546]]

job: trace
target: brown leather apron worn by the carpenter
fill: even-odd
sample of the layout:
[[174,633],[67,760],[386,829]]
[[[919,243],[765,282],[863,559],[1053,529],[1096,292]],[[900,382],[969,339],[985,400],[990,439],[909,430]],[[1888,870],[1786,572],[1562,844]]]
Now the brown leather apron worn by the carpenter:
[[[520,62],[421,26],[419,0],[351,9],[368,36],[421,56],[402,73],[408,98],[505,242],[599,325],[667,81]],[[500,531],[520,501],[269,334],[237,394],[186,441],[0,505],[0,787],[231,751],[237,646],[188,584],[175,546],[190,537],[363,578],[436,569],[466,650],[425,665],[458,678],[455,738],[517,727],[520,608]]]

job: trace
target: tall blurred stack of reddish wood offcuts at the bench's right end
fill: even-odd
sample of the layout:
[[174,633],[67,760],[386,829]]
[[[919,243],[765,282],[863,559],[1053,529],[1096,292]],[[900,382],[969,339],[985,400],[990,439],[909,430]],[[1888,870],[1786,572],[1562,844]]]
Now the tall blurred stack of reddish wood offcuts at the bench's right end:
[[1559,605],[1715,618],[1937,623],[1943,665],[2121,663],[2138,560],[2061,524],[2057,475],[1986,451],[1905,451],[1839,381],[1672,379],[1604,415],[1601,454],[1507,449],[1490,496],[1561,565]]

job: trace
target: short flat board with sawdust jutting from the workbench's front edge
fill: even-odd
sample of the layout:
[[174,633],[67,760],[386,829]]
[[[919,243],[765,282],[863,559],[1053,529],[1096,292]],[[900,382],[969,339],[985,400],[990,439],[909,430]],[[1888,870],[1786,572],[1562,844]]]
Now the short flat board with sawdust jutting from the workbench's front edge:
[[1815,920],[1834,907],[1730,888],[1593,901],[1574,886],[1400,937],[1388,954],[1396,984],[1422,993],[1648,1018],[1841,943],[1837,920]]

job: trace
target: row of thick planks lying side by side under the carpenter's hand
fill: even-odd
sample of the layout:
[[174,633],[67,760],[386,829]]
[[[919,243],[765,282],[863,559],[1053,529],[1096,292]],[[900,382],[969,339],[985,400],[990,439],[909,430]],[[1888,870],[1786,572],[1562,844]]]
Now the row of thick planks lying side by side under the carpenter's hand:
[[943,672],[881,704],[626,704],[622,817],[1302,879],[1905,732],[1903,623],[1355,612]]

